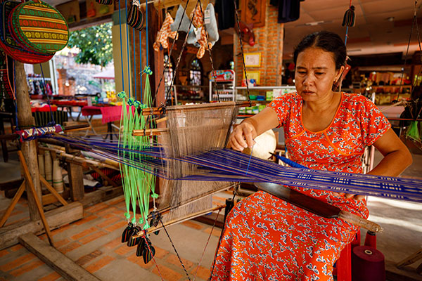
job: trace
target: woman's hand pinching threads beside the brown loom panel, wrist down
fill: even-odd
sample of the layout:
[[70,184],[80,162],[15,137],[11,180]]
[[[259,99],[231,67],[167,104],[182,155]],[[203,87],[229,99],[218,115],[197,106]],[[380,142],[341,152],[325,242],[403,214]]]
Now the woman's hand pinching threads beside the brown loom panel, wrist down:
[[245,119],[241,124],[238,124],[229,136],[228,147],[234,150],[243,151],[245,148],[252,148],[255,144],[253,139],[257,136],[255,126],[252,120]]

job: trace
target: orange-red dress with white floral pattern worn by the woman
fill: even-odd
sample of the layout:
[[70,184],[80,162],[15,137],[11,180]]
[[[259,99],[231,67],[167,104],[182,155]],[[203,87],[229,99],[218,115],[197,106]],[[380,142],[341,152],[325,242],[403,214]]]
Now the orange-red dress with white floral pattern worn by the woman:
[[[276,98],[273,108],[284,127],[290,159],[312,169],[362,172],[361,156],[390,129],[388,120],[370,100],[342,93],[330,126],[312,132],[302,123],[303,100],[298,93]],[[368,217],[366,202],[324,190],[294,188],[340,209]],[[212,280],[333,280],[333,264],[357,226],[323,218],[256,192],[232,209],[217,250]]]

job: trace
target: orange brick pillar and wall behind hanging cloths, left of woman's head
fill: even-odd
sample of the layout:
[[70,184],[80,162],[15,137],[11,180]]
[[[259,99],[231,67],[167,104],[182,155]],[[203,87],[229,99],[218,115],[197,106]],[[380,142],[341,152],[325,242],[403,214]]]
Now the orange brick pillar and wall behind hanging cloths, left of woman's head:
[[[284,25],[277,22],[278,14],[278,8],[269,5],[269,0],[267,0],[265,25],[253,29],[255,45],[250,46],[247,42],[242,42],[243,53],[261,53],[261,66],[246,68],[247,73],[248,71],[260,71],[260,86],[281,85]],[[241,53],[241,46],[238,35],[234,34],[234,54],[238,53]],[[237,84],[240,85],[244,77],[241,56],[235,55],[234,61]]]

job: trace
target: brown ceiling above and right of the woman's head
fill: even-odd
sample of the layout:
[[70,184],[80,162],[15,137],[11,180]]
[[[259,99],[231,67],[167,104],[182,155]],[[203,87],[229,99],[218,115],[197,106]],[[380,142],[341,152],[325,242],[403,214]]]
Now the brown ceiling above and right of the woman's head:
[[[422,16],[422,1],[417,4],[417,16]],[[305,0],[300,2],[300,18],[284,27],[284,59],[292,58],[293,48],[306,34],[330,30],[345,38],[346,27],[341,26],[350,0]],[[349,55],[374,53],[406,53],[414,0],[352,0],[356,23],[349,27],[347,51]],[[388,20],[390,18],[390,20]],[[318,23],[319,22],[319,23]],[[422,18],[418,18],[422,32]],[[416,27],[412,32],[409,54],[418,50]]]

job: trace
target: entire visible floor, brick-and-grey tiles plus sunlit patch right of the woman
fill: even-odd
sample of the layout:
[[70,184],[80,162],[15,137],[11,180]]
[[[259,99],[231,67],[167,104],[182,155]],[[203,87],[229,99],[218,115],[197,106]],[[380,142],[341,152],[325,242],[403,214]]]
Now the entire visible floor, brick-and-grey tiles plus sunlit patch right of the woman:
[[[381,155],[377,153],[376,162],[379,159]],[[19,178],[18,165],[13,153],[8,163],[0,162],[0,182]],[[422,155],[414,155],[414,164],[402,176],[422,178]],[[222,196],[215,196],[215,204],[224,203]],[[3,193],[0,194],[0,215],[10,201]],[[369,219],[384,228],[383,233],[378,235],[377,244],[386,261],[397,263],[422,247],[422,204],[370,197],[368,205]],[[56,247],[101,280],[162,280],[160,275],[164,280],[188,280],[164,231],[151,237],[158,267],[153,262],[144,265],[142,259],[135,256],[136,247],[129,248],[120,243],[120,235],[126,226],[124,209],[123,197],[85,209],[82,220],[53,230]],[[23,220],[27,216],[26,200],[21,199],[6,224]],[[211,229],[211,226],[196,221],[186,221],[167,229],[191,280],[201,259],[196,280],[207,280],[210,274],[221,232],[221,229],[216,228],[211,233]],[[46,239],[45,235],[41,237]],[[207,249],[203,255],[205,244]],[[407,271],[414,271],[421,262],[408,266]],[[422,280],[420,275],[412,276]],[[0,251],[1,280],[63,280],[63,277],[18,244]]]

